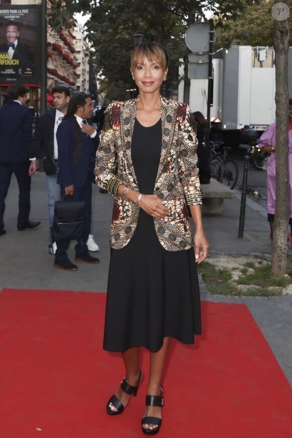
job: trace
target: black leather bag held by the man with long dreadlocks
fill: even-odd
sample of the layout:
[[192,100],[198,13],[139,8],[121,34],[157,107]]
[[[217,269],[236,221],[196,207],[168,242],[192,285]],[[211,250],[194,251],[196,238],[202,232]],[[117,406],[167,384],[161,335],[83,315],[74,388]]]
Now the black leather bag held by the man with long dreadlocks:
[[80,240],[84,230],[85,201],[56,201],[53,236],[57,240]]

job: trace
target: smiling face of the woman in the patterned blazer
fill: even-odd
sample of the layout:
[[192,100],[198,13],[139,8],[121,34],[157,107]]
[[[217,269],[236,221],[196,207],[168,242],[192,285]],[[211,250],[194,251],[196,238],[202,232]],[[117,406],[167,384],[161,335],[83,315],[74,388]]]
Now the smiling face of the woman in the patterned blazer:
[[167,72],[168,68],[164,70],[159,62],[149,61],[147,58],[139,59],[134,70],[131,69],[133,79],[140,93],[154,93],[159,90]]

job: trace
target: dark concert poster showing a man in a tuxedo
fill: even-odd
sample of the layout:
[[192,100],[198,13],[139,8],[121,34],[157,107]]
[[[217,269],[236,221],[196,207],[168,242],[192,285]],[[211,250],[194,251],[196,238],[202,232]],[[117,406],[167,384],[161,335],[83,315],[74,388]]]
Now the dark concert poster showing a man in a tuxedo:
[[37,82],[36,6],[0,5],[0,82]]

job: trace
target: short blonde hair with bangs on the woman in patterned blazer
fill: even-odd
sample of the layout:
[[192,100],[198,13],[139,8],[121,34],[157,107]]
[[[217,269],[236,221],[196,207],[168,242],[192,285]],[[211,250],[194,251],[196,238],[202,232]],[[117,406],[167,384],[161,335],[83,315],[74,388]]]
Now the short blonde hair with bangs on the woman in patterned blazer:
[[165,70],[168,66],[168,56],[165,48],[158,42],[148,41],[138,44],[131,55],[131,69],[134,70],[141,59],[150,62],[157,61]]

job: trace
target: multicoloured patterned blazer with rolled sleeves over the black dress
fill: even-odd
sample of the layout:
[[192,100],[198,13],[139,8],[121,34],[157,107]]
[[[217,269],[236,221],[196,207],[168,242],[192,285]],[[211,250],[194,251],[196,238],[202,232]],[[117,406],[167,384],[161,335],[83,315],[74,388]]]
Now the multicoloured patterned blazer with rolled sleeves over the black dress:
[[[131,160],[131,139],[138,103],[136,99],[115,103],[105,117],[96,154],[95,175],[100,187],[114,196],[121,183],[138,191]],[[161,97],[162,148],[154,194],[166,201],[169,214],[155,219],[162,246],[167,251],[180,251],[193,246],[188,205],[201,204],[197,168],[197,141],[193,117],[185,103]],[[115,167],[117,164],[117,171]],[[110,230],[110,246],[124,247],[133,236],[139,207],[115,196]]]

